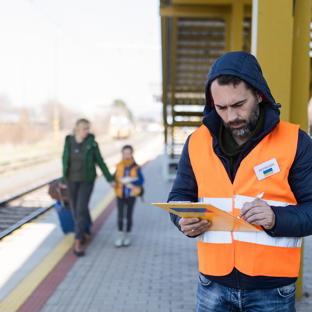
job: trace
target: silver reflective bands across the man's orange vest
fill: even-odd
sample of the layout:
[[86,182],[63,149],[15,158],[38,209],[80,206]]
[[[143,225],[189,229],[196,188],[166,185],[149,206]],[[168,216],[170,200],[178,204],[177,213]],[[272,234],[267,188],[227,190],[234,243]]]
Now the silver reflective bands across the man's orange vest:
[[[234,208],[241,209],[244,202],[251,202],[254,197],[234,195]],[[263,200],[263,199],[261,199]],[[292,205],[287,202],[278,202],[273,200],[265,200],[270,206],[282,206]],[[201,197],[198,198],[198,202],[208,202],[211,205],[225,210],[232,211],[232,198],[213,198],[213,197]],[[231,207],[230,210],[229,207]],[[302,237],[271,237],[266,232],[233,232],[233,239],[236,241],[244,241],[253,244],[261,244],[266,246],[277,247],[300,247]],[[205,231],[197,237],[198,241],[205,243],[215,244],[231,244],[232,235],[230,231]]]

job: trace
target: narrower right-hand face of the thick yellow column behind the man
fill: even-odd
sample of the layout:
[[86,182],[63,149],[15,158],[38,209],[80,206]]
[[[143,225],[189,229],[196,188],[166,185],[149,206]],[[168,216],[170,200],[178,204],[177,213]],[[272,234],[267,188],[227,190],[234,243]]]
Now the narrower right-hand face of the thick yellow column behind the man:
[[310,22],[311,0],[297,0],[294,17],[290,122],[308,130],[310,95]]

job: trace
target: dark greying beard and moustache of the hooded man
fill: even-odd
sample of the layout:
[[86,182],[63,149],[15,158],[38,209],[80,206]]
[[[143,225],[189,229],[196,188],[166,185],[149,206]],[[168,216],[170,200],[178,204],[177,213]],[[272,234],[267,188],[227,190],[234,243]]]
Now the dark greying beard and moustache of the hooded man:
[[[233,136],[244,138],[250,135],[252,130],[256,127],[259,115],[260,115],[259,104],[258,104],[258,101],[255,101],[255,106],[253,110],[251,111],[251,113],[247,116],[247,120],[236,119],[235,121],[229,121],[227,123],[225,123],[223,119],[222,121],[223,121],[224,127],[227,130],[229,130]],[[231,127],[231,126],[234,126],[236,124],[241,124],[241,123],[245,123],[245,125],[243,125],[240,128]]]

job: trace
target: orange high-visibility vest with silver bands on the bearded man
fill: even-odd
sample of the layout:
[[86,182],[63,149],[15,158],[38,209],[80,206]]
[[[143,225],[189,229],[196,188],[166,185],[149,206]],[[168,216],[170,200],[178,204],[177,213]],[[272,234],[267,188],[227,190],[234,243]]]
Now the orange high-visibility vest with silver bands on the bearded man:
[[[275,129],[241,161],[233,184],[219,157],[213,152],[212,136],[202,125],[190,137],[188,151],[198,186],[198,201],[234,216],[244,202],[265,192],[261,200],[271,206],[296,205],[288,184],[294,161],[299,125],[280,121]],[[276,158],[280,172],[258,181],[254,167]],[[277,220],[278,222],[278,220]],[[262,228],[259,227],[261,230]],[[203,232],[197,238],[199,271],[227,275],[234,266],[247,275],[298,276],[301,237],[271,237],[266,232]]]

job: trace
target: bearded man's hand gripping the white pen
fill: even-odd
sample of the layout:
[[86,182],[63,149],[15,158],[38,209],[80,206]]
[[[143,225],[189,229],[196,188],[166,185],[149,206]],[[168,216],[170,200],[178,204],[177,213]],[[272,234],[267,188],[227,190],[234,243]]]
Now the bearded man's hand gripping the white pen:
[[240,213],[251,225],[262,225],[266,230],[275,225],[275,213],[264,200],[245,202]]

